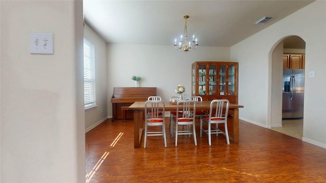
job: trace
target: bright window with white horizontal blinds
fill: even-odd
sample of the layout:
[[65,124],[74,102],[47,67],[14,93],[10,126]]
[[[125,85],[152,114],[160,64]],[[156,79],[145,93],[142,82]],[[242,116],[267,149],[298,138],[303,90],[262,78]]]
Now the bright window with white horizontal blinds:
[[84,95],[85,109],[96,106],[94,45],[84,37]]

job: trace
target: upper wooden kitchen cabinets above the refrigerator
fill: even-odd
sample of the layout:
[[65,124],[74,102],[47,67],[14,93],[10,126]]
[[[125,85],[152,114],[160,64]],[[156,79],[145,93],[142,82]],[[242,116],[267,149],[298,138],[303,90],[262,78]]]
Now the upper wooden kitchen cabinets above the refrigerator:
[[305,69],[305,54],[283,54],[283,69]]

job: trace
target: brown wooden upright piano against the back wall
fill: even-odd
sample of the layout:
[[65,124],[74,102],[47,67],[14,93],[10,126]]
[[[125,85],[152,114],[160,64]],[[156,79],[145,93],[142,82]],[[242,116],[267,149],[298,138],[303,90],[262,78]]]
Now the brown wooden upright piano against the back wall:
[[[156,96],[156,87],[114,87],[111,98],[112,121],[122,119],[121,107],[130,106],[137,101],[147,101],[149,96]],[[132,118],[132,111],[125,111],[126,118]]]

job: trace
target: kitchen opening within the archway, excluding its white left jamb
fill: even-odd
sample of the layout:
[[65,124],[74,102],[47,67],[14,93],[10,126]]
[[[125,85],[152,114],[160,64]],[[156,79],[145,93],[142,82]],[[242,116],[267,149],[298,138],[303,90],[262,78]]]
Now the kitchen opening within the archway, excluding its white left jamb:
[[302,140],[306,42],[298,36],[283,40],[282,125],[271,128]]

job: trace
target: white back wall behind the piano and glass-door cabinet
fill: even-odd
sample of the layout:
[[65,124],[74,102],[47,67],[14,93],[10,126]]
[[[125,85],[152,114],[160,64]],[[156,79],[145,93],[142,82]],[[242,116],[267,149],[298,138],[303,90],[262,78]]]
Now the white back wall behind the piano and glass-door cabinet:
[[[229,47],[203,47],[188,53],[171,46],[159,45],[107,45],[107,96],[113,87],[134,87],[132,75],[141,76],[141,87],[157,87],[162,100],[177,96],[178,84],[185,86],[191,96],[192,63],[196,61],[231,61]],[[112,104],[108,101],[108,115],[112,117]]]

